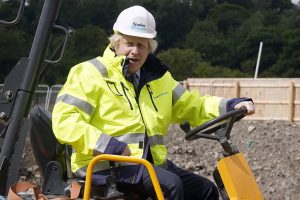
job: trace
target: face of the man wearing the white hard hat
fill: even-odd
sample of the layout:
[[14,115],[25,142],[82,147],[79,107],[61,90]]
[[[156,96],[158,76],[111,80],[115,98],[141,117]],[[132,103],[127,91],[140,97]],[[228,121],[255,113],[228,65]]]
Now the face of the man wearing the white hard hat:
[[116,54],[127,56],[129,59],[128,71],[130,73],[138,71],[146,61],[149,53],[148,45],[147,38],[125,35],[121,39],[120,45],[116,49]]

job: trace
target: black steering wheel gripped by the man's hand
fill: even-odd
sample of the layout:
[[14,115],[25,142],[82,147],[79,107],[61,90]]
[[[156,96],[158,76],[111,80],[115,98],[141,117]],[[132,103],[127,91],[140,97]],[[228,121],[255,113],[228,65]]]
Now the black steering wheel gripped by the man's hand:
[[[244,118],[246,112],[246,108],[229,111],[193,130],[190,130],[190,125],[187,122],[181,124],[180,127],[186,132],[185,139],[188,141],[198,138],[208,138],[219,141],[221,138],[224,138],[224,136],[226,139],[229,139],[233,124]],[[211,135],[212,133],[215,133],[215,135]]]

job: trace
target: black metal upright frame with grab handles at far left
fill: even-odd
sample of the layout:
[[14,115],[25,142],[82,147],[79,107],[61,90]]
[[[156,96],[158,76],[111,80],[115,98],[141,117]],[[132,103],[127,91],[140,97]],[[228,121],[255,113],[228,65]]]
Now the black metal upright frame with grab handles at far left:
[[[2,3],[2,1],[1,1]],[[28,57],[21,58],[5,78],[0,94],[0,194],[7,194],[17,181],[20,160],[29,128],[28,112],[34,91],[47,64],[61,59],[70,31],[55,24],[61,0],[45,0]],[[13,26],[21,19],[25,0],[20,1],[12,21],[0,20],[2,26]],[[65,34],[60,57],[46,58],[54,31]]]

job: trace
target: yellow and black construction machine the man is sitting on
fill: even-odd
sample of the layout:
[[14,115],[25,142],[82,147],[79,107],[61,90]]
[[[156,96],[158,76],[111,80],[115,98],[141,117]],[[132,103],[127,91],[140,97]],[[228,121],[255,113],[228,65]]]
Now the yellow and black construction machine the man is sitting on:
[[[77,179],[70,171],[70,147],[60,144],[51,128],[51,113],[42,106],[31,108],[34,92],[43,71],[48,64],[62,59],[71,29],[56,24],[61,0],[45,0],[37,25],[29,56],[21,58],[5,79],[0,93],[0,195],[6,196],[11,185],[17,182],[18,171],[27,133],[30,133],[32,149],[40,167],[43,184],[42,193],[46,196],[68,196],[72,181],[81,186],[84,199],[149,199],[137,196],[133,191],[120,191],[116,186],[116,176],[107,176],[106,185],[93,187],[92,172],[100,160],[111,162],[133,162],[145,165],[157,199],[164,199],[152,165],[144,159],[128,156],[99,155],[92,159],[85,180]],[[0,20],[4,26],[12,26],[21,18],[25,0],[20,1],[17,17],[12,21]],[[59,58],[46,58],[46,52],[54,31],[65,35]],[[245,116],[246,110],[234,110],[196,128],[188,123],[181,125],[186,132],[186,140],[206,138],[219,142],[224,149],[224,158],[218,161],[213,173],[223,200],[245,199],[260,200],[263,196],[251,169],[236,146],[230,143],[230,132],[234,123]],[[29,117],[30,116],[30,117]]]

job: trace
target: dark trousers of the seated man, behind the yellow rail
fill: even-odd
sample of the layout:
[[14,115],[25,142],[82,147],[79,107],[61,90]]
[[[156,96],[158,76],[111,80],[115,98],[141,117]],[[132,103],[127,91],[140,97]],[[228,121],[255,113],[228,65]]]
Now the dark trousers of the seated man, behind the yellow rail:
[[[218,200],[217,187],[210,180],[183,170],[171,161],[167,161],[168,169],[154,166],[157,178],[168,200]],[[119,188],[132,190],[140,196],[153,197],[156,194],[148,171],[143,170],[142,177],[137,184],[118,183]]]

